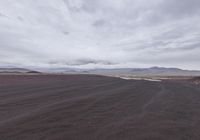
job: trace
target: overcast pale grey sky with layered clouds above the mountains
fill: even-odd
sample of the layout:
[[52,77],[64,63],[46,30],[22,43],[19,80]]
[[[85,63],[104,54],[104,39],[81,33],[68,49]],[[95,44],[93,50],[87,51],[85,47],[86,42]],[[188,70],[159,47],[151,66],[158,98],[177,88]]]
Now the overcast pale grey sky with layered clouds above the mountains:
[[0,67],[199,62],[200,0],[0,0]]

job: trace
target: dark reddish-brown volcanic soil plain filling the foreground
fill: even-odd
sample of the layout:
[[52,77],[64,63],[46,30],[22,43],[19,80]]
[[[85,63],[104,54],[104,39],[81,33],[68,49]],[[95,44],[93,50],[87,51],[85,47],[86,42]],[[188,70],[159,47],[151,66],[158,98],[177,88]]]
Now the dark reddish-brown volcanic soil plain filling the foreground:
[[1,75],[0,140],[200,140],[200,86]]

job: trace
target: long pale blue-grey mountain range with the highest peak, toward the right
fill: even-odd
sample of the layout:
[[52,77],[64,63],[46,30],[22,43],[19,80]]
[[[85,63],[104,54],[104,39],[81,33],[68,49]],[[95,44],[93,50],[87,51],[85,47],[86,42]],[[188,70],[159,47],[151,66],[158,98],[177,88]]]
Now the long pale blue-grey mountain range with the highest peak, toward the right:
[[[58,71],[58,70],[57,70]],[[200,71],[182,70],[178,68],[151,67],[151,68],[117,68],[117,69],[61,69],[66,74],[129,74],[135,76],[200,76]]]

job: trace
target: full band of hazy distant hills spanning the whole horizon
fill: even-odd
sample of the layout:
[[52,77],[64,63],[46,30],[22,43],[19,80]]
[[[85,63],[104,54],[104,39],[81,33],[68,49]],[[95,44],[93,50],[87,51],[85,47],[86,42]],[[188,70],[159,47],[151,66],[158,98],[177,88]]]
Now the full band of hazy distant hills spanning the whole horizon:
[[[99,75],[131,75],[131,76],[200,76],[200,71],[182,70],[178,68],[116,68],[116,69],[76,69],[54,68],[40,70],[46,73],[61,74],[99,74]],[[0,73],[40,73],[24,68],[0,68]]]

